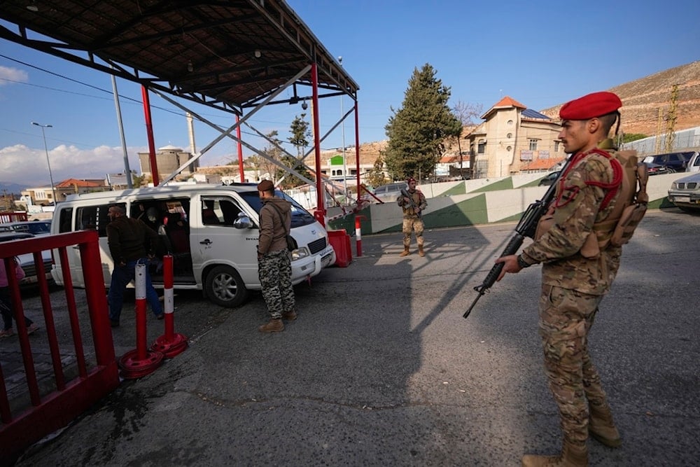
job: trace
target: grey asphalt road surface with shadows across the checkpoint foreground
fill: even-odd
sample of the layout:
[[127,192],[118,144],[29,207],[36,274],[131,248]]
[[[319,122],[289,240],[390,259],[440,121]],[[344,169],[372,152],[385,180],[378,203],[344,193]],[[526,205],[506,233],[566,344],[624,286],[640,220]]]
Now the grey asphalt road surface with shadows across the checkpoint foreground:
[[[363,257],[297,286],[299,319],[274,335],[258,333],[259,294],[230,310],[178,293],[190,347],[18,465],[517,466],[558,452],[540,268],[462,318],[513,228],[430,230],[425,258],[400,258],[400,234],[365,236]],[[590,344],[624,444],[589,440],[591,466],[699,463],[699,228],[700,216],[652,211],[624,249]],[[127,315],[118,355],[134,348]]]

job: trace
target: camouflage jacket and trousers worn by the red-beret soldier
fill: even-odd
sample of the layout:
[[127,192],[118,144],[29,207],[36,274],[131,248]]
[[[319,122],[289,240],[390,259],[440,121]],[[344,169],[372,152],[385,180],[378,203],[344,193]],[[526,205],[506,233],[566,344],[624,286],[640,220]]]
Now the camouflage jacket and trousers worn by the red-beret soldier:
[[597,258],[580,253],[594,223],[610,214],[617,198],[603,202],[614,174],[607,158],[596,151],[575,156],[550,207],[554,225],[521,255],[527,263],[543,263],[539,328],[545,372],[564,440],[582,448],[588,438],[589,405],[607,407],[587,336],[622,253],[615,246],[605,247]]

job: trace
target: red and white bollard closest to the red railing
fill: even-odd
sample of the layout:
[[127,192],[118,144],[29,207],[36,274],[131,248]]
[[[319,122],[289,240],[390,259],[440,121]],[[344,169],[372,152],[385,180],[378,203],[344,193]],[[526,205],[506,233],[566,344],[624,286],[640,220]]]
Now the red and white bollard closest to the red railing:
[[163,354],[146,347],[146,265],[136,265],[136,349],[119,359],[122,377],[135,379],[150,375],[163,361]]

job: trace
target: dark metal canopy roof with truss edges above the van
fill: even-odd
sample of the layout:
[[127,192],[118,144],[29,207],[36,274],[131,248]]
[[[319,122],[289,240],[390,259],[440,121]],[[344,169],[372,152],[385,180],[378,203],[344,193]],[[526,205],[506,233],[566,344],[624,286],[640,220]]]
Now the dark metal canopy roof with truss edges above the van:
[[[257,106],[313,62],[318,97],[357,99],[283,0],[3,0],[0,18],[17,29],[0,25],[2,39],[225,111]],[[269,104],[310,99],[310,87],[309,71]]]

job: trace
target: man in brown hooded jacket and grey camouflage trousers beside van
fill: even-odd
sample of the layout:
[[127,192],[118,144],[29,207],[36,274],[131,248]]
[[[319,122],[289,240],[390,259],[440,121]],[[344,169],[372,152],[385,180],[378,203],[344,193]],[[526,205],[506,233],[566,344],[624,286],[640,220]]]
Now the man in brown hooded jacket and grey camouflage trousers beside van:
[[291,204],[274,195],[274,184],[269,180],[258,183],[258,195],[262,200],[258,277],[270,318],[259,330],[261,333],[279,333],[284,330],[282,319],[297,319],[292,262],[286,242],[286,233],[292,224]]

